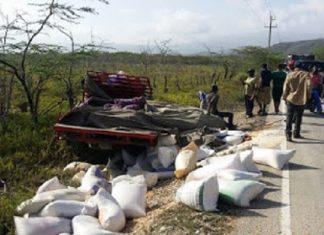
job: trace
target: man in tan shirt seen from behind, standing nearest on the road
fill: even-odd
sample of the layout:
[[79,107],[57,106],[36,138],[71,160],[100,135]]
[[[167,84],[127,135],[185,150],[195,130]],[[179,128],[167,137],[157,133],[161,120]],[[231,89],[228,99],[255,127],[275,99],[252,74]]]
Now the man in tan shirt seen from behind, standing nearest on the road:
[[287,75],[284,85],[283,100],[287,104],[286,137],[292,141],[292,124],[295,116],[295,129],[293,137],[302,138],[300,129],[302,117],[307,101],[311,97],[311,83],[308,72],[302,71],[302,64],[296,62],[294,71]]

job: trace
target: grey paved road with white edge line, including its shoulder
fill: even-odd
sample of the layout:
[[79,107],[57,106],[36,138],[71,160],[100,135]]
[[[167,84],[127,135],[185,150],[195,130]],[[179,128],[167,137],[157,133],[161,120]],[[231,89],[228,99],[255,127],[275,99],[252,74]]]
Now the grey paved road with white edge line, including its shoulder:
[[[283,116],[269,116],[272,129],[284,137]],[[307,113],[303,140],[281,147],[296,149],[289,169],[261,167],[268,185],[263,200],[238,210],[233,234],[324,234],[324,116]]]

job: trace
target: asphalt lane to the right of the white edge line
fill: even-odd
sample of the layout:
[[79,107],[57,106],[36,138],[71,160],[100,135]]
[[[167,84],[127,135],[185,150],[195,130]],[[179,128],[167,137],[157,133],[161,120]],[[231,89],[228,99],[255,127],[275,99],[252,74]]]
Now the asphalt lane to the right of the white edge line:
[[292,234],[324,234],[324,116],[306,113],[290,164]]

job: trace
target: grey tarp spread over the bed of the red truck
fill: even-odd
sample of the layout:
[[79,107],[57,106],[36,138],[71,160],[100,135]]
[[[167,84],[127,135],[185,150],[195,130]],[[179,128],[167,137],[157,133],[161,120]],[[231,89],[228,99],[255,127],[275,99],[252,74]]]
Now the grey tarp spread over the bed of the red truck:
[[126,128],[174,133],[196,130],[204,126],[225,128],[218,117],[204,114],[194,107],[150,103],[150,112],[140,110],[105,110],[83,104],[67,114],[60,124],[91,128]]

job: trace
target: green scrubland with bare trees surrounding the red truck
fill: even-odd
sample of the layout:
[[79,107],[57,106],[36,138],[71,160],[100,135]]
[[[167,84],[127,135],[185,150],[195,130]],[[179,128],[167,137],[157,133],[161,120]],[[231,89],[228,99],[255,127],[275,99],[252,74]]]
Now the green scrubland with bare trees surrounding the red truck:
[[[52,14],[54,5],[38,7]],[[59,12],[66,10],[63,7]],[[91,8],[70,10],[92,13]],[[199,104],[198,91],[209,91],[211,85],[218,84],[221,109],[232,111],[243,107],[241,81],[248,68],[258,69],[267,62],[274,69],[284,62],[283,55],[260,47],[237,49],[230,55],[208,49],[205,56],[181,56],[172,51],[170,41],[156,42],[139,54],[113,53],[103,46],[78,45],[68,30],[51,24],[50,20],[44,23],[46,18],[27,32],[23,30],[28,25],[26,19],[5,19],[0,27],[0,179],[6,182],[7,191],[0,192],[0,234],[14,234],[14,209],[30,198],[42,182],[58,175],[63,182],[70,183],[70,176],[62,173],[62,167],[77,157],[69,146],[55,139],[53,125],[60,115],[81,101],[81,81],[86,71],[122,70],[147,76],[154,99],[192,106]],[[70,40],[71,48],[30,41],[32,35],[38,35],[37,30],[43,30],[41,27],[61,30]],[[27,41],[8,42],[22,32],[30,34]],[[4,40],[3,35],[10,37]]]

